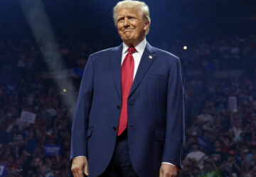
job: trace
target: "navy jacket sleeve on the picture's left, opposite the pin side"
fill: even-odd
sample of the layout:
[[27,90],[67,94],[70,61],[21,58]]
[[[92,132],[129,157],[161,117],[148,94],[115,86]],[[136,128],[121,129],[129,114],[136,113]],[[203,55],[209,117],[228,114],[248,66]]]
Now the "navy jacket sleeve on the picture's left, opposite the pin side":
[[93,62],[90,56],[82,76],[78,101],[75,108],[73,125],[71,130],[70,160],[75,156],[87,156],[87,125],[92,106],[93,94]]

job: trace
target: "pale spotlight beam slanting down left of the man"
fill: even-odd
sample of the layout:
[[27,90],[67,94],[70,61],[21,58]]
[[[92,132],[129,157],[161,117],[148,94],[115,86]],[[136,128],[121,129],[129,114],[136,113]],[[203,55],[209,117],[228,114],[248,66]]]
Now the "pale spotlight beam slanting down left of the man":
[[58,52],[58,44],[55,42],[55,36],[43,3],[41,0],[18,0],[18,3],[20,4],[26,17],[26,21],[28,21],[28,25],[36,38],[36,42],[40,47],[43,58],[48,64],[48,68],[58,86],[58,90],[63,91],[63,88],[65,88],[67,91],[62,95],[62,101],[66,108],[68,108],[68,111],[73,115],[76,103],[75,89],[71,79],[58,79],[56,77],[59,72],[65,69],[65,67],[60,53]]

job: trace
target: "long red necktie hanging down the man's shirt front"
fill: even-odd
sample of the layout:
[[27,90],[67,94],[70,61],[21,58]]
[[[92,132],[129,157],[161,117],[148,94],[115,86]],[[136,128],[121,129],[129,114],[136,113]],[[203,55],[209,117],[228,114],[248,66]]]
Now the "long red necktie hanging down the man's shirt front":
[[122,108],[119,118],[119,125],[117,136],[121,135],[122,132],[127,128],[127,98],[129,91],[132,88],[132,81],[134,76],[134,57],[132,54],[136,52],[134,47],[129,47],[129,52],[124,57],[124,62],[121,67],[122,76]]

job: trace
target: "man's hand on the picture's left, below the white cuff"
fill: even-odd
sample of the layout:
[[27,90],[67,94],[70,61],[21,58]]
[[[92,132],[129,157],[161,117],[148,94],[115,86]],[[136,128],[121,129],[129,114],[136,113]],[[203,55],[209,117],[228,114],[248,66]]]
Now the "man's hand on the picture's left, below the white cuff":
[[74,177],[82,177],[83,173],[88,176],[88,161],[86,156],[78,156],[74,158],[72,161],[71,171]]

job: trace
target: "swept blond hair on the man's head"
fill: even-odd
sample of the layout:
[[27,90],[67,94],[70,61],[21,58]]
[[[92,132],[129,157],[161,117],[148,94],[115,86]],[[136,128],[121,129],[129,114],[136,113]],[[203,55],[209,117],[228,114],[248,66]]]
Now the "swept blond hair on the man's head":
[[[138,8],[142,11],[142,16],[149,21],[149,26],[151,24],[151,19],[149,17],[149,6],[146,5],[142,1],[132,1],[132,0],[124,0],[119,1],[116,6],[113,8],[113,18],[114,18],[114,25],[117,26],[117,12],[120,8]],[[146,30],[146,35],[149,33],[149,28]]]

